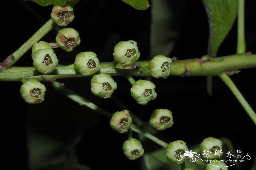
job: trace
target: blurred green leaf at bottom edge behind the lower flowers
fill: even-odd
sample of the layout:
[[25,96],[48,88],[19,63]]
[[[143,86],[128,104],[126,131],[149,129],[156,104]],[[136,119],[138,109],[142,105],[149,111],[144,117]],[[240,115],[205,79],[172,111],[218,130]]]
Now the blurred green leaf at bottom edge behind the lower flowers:
[[[186,167],[203,170],[204,166],[191,162],[189,158],[185,160]],[[143,156],[143,170],[180,170],[181,166],[167,160],[166,149],[161,148]]]

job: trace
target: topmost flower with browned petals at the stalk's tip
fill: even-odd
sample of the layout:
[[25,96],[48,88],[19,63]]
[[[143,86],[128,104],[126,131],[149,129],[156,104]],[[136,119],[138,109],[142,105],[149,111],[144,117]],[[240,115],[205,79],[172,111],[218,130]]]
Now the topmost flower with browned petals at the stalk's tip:
[[62,7],[54,5],[52,8],[51,18],[57,25],[65,27],[74,20],[74,9],[68,5],[64,5]]

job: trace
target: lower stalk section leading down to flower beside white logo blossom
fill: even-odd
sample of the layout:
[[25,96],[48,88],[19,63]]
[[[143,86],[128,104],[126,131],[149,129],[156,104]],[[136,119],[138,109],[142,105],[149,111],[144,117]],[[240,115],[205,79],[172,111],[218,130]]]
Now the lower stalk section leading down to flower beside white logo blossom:
[[155,137],[154,135],[151,135],[150,133],[140,129],[138,126],[136,126],[135,124],[132,124],[130,126],[130,129],[136,133],[142,134],[144,137],[150,139],[151,141],[154,141],[155,143],[157,143],[158,145],[166,148],[168,146],[168,143],[158,139],[157,137]]

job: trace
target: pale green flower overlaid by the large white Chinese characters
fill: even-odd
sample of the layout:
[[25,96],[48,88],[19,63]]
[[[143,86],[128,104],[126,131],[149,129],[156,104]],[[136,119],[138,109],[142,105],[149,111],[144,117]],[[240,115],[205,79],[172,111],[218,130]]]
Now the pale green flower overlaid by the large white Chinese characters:
[[207,153],[207,159],[219,158],[223,153],[222,142],[219,139],[208,137],[200,144],[201,153]]

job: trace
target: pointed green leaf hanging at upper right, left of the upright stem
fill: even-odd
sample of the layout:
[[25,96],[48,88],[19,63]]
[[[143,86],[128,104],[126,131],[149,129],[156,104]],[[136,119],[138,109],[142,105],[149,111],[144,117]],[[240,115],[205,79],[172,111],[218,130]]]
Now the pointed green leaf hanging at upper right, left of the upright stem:
[[237,16],[238,0],[203,0],[209,20],[208,54],[216,56]]

